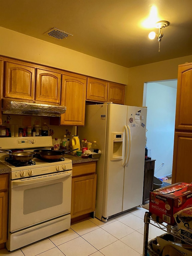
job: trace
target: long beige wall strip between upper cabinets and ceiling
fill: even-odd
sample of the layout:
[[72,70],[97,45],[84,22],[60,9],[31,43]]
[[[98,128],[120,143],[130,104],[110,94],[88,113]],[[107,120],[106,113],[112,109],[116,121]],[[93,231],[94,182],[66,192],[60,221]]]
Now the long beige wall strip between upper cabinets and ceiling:
[[128,68],[0,27],[0,55],[127,84]]

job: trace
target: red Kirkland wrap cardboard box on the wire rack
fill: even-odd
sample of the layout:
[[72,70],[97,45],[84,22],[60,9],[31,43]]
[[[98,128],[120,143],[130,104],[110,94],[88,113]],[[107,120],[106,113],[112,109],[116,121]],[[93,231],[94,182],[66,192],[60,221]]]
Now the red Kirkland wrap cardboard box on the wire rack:
[[173,214],[189,207],[192,207],[191,183],[179,182],[150,192],[149,212],[172,226],[176,224]]

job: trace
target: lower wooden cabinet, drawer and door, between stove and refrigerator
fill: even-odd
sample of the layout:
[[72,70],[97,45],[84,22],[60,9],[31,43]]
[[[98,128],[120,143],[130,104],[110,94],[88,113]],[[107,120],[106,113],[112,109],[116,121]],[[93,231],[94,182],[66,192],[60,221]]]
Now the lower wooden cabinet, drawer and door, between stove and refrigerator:
[[73,165],[71,218],[95,211],[97,182],[95,167],[95,161]]

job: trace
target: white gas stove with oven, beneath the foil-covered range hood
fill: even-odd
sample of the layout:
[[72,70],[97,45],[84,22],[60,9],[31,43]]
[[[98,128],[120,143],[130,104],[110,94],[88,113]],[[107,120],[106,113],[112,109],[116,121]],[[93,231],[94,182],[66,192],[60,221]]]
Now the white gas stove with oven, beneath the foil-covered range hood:
[[[51,147],[51,136],[0,138],[0,150],[23,149],[33,152]],[[9,251],[70,228],[70,159],[46,162],[35,156],[23,163],[13,161],[11,156],[3,152],[0,161],[11,169],[6,242]]]

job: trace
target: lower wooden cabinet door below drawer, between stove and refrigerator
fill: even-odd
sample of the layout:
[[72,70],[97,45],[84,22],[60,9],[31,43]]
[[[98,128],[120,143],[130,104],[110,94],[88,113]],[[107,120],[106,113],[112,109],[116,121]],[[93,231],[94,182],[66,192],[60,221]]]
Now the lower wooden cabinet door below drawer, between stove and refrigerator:
[[95,211],[97,175],[72,177],[71,218]]

